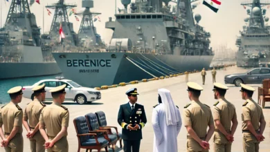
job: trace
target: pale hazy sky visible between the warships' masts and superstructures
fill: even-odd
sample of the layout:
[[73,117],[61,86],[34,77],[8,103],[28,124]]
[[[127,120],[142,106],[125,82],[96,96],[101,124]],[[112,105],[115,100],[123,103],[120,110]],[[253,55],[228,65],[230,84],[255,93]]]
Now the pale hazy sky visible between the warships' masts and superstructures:
[[[11,2],[6,2],[6,0],[1,1],[1,23],[6,21],[6,16],[8,14],[8,10],[10,8]],[[12,0],[9,0],[12,1]],[[28,0],[29,1],[29,0]],[[43,11],[44,6],[56,3],[57,0],[39,0],[40,5],[38,3],[34,3],[33,6],[30,6],[30,11],[33,12],[36,16],[37,25],[42,28],[43,31]],[[134,1],[134,0],[132,0]],[[199,21],[199,25],[203,26],[206,31],[210,32],[210,47],[213,49],[217,48],[219,45],[227,45],[228,48],[237,49],[235,46],[235,40],[237,35],[239,35],[239,31],[242,30],[242,26],[244,26],[244,18],[247,17],[246,10],[249,7],[246,7],[246,10],[243,6],[240,5],[241,2],[246,2],[246,0],[219,0],[222,2],[217,13],[213,12],[207,6],[204,6],[203,0],[199,0],[199,5],[194,10],[194,15],[201,15],[201,21]],[[252,1],[252,0],[251,0]],[[262,0],[261,0],[262,1]],[[66,3],[76,4],[77,8],[75,10],[84,10],[82,8],[81,1],[75,0],[65,0]],[[249,1],[250,2],[250,1]],[[197,3],[197,2],[196,2]],[[174,5],[174,3],[170,3]],[[111,39],[111,35],[113,30],[105,28],[105,22],[109,21],[109,17],[113,17],[115,12],[115,5],[117,8],[124,8],[121,4],[120,0],[96,0],[94,1],[94,8],[91,8],[91,12],[100,12],[101,21],[96,21],[94,26],[96,26],[97,32],[101,35],[102,40],[105,41],[106,44],[109,44]],[[129,6],[128,6],[129,8]],[[264,6],[267,9],[267,6]],[[118,9],[117,9],[118,10]],[[267,9],[267,17],[270,17]],[[51,10],[52,15],[48,16],[48,12],[44,9],[44,32],[49,31],[51,28],[51,21],[53,20],[54,11]],[[118,11],[117,11],[118,12]],[[80,19],[80,17],[79,17]],[[69,21],[73,22],[73,28],[75,32],[78,32],[80,28],[80,21],[76,21],[74,15],[69,17]]]

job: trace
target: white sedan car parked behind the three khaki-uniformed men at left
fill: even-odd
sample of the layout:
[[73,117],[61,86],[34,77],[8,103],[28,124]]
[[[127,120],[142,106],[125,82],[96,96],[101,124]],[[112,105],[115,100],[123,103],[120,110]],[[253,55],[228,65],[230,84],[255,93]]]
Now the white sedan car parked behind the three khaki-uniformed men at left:
[[39,86],[41,84],[45,83],[45,90],[46,90],[46,100],[53,100],[53,97],[51,96],[51,93],[49,90],[52,88],[55,88],[57,86],[61,86],[63,84],[66,84],[66,99],[69,101],[77,102],[78,104],[85,104],[87,102],[94,102],[101,98],[100,91],[96,90],[95,88],[87,88],[82,87],[76,82],[71,81],[70,79],[44,79],[41,80],[33,86],[23,86],[23,96],[28,99],[33,99],[33,91],[32,88],[35,86]]

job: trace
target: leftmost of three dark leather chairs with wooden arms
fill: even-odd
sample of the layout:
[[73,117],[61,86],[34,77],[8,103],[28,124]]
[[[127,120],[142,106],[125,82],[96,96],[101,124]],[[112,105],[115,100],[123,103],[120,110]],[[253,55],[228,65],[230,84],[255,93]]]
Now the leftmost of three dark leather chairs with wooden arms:
[[104,137],[98,137],[96,133],[89,133],[86,117],[76,117],[73,124],[78,137],[78,152],[80,152],[80,149],[87,149],[87,151],[97,149],[100,152],[100,149],[103,148],[108,152],[109,142]]

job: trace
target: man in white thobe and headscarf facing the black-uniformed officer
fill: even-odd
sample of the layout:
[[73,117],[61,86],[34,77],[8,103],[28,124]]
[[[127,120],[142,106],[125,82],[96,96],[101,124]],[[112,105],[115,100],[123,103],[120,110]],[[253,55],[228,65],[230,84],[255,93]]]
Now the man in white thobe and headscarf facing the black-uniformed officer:
[[154,106],[152,125],[154,128],[154,152],[177,152],[177,135],[182,121],[179,109],[174,105],[170,91],[159,89],[159,104]]

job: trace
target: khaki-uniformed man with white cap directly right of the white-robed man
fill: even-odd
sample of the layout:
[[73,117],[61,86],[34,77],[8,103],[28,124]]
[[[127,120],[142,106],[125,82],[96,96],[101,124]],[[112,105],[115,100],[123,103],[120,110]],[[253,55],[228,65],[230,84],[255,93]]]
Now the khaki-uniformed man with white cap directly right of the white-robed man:
[[203,89],[195,82],[188,82],[188,97],[191,104],[187,104],[183,111],[183,124],[188,131],[188,152],[208,151],[210,149],[208,142],[215,129],[210,107],[199,101],[199,95]]

